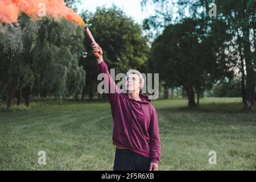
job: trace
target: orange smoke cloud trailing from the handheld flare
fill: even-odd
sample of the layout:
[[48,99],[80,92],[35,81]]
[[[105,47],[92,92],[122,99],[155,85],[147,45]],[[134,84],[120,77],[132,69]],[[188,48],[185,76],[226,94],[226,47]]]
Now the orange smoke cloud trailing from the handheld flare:
[[[45,9],[44,9],[45,7]],[[65,18],[71,22],[86,27],[82,18],[71,8],[66,6],[64,0],[1,0],[0,23],[16,23],[19,14],[23,12],[33,19],[42,18],[40,14],[46,13],[47,17],[55,20]]]

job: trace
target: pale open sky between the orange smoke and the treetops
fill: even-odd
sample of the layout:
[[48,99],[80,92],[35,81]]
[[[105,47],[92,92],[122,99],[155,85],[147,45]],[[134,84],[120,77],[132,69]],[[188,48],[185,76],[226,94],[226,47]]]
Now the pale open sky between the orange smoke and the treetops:
[[83,9],[94,13],[98,6],[108,8],[115,5],[140,24],[143,19],[150,16],[150,14],[154,14],[154,6],[147,6],[142,11],[141,0],[82,0],[81,2],[81,6],[78,7],[78,13]]

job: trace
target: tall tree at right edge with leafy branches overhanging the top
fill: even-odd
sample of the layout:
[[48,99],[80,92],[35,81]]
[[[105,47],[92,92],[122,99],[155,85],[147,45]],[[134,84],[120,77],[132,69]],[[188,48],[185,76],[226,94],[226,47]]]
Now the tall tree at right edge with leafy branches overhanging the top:
[[[148,1],[142,0],[142,6],[146,6]],[[216,30],[225,28],[226,34],[221,35],[220,32],[216,31],[216,35],[225,40],[225,47],[223,49],[225,49],[228,59],[223,61],[226,61],[230,69],[240,69],[242,77],[241,88],[243,100],[245,101],[244,109],[249,110],[256,100],[255,1],[179,0],[176,4],[170,0],[152,0],[152,2],[157,5],[158,9],[156,9],[156,15],[144,20],[144,27],[147,30],[152,31],[157,28],[167,27],[169,24],[174,24],[187,18],[187,16],[194,20],[203,20],[205,26],[209,26],[209,28],[212,27]],[[170,3],[173,5],[172,7],[176,6],[179,9],[177,12],[179,13],[179,18],[176,21],[172,19],[172,14],[168,12],[168,9],[165,9]],[[210,17],[208,14],[210,3],[217,5],[216,17]],[[187,8],[189,9],[189,15],[185,14]],[[214,27],[210,26],[211,24],[213,25],[213,22],[216,22]],[[222,23],[217,22],[224,22],[226,26],[224,27]]]

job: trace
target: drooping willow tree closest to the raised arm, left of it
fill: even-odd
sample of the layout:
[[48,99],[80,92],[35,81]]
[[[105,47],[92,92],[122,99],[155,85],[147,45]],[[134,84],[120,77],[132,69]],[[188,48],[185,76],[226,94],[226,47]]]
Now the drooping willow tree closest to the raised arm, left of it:
[[35,50],[37,69],[34,93],[64,98],[79,94],[85,85],[85,71],[79,65],[84,49],[82,27],[61,20],[41,22],[39,38]]

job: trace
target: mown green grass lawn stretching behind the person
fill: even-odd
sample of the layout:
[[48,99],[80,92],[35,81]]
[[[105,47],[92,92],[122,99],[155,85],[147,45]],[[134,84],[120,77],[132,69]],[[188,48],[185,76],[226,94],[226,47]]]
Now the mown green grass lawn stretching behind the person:
[[[152,102],[158,111],[159,170],[255,170],[256,109],[244,113],[240,98]],[[0,111],[1,170],[112,170],[112,115],[108,102],[19,106]],[[46,151],[46,165],[38,152]],[[209,151],[217,152],[210,165]]]

